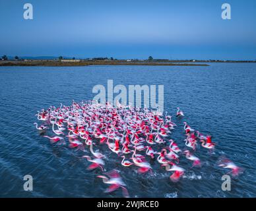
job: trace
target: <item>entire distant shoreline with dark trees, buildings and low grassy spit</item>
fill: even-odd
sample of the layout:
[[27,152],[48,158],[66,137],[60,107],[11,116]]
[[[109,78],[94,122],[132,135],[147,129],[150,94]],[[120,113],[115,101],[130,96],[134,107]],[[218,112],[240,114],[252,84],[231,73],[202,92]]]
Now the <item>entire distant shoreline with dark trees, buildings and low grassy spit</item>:
[[255,61],[234,60],[170,60],[170,59],[114,59],[113,57],[96,57],[87,59],[76,59],[75,57],[7,57],[3,55],[0,66],[87,66],[87,65],[149,65],[149,66],[209,66],[207,63],[255,63]]

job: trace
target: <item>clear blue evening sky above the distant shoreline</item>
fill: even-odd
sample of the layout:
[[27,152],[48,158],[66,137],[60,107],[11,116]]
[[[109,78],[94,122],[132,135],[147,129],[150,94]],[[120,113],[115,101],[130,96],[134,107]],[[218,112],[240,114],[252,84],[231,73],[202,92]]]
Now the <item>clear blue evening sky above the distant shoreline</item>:
[[256,59],[254,0],[0,0],[0,18],[0,55]]

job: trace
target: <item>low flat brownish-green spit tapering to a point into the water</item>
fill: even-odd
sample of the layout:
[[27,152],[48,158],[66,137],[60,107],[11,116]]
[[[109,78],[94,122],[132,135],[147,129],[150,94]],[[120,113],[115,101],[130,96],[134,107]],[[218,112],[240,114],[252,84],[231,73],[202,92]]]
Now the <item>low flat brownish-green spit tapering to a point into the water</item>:
[[134,62],[134,61],[0,61],[0,66],[45,66],[45,67],[71,67],[88,65],[148,65],[148,66],[209,66],[203,63],[166,63],[166,62]]

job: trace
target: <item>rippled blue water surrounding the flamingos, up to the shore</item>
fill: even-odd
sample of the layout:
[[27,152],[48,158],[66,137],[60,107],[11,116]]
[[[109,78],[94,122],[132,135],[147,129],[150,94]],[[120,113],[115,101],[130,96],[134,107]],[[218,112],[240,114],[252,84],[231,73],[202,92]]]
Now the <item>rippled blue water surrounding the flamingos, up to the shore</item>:
[[[256,64],[212,63],[210,67],[0,67],[0,196],[1,197],[121,197],[104,193],[107,185],[88,171],[82,152],[54,146],[38,135],[36,111],[93,98],[92,87],[164,84],[164,108],[170,115],[179,106],[191,127],[212,135],[215,154],[200,148],[201,168],[181,159],[185,177],[172,183],[170,173],[154,166],[153,175],[124,169],[110,156],[108,169],[119,169],[132,197],[256,197]],[[184,148],[183,120],[172,137]],[[102,149],[104,151],[104,149]],[[88,152],[89,154],[90,152]],[[244,169],[222,191],[226,169],[216,162],[226,156]],[[23,191],[23,176],[34,179],[34,191]],[[201,176],[201,179],[199,179]]]

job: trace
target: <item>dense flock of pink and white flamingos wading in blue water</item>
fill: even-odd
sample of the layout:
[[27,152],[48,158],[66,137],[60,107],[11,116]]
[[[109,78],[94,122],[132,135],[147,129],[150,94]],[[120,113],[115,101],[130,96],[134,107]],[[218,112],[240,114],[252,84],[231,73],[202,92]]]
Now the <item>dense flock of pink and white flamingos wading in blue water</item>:
[[[215,143],[210,135],[203,135],[192,129],[184,122],[185,150],[182,151],[177,143],[170,139],[172,131],[177,126],[170,115],[163,116],[158,111],[147,108],[123,106],[117,102],[117,106],[110,103],[105,105],[89,102],[77,103],[73,100],[71,106],[50,106],[36,114],[39,121],[44,123],[36,129],[49,138],[51,143],[65,144],[68,140],[69,148],[77,148],[84,152],[85,147],[90,149],[91,155],[84,155],[90,162],[88,169],[100,169],[103,182],[110,186],[106,193],[121,188],[123,196],[127,197],[128,191],[125,183],[119,175],[119,171],[113,169],[106,172],[104,169],[106,156],[95,150],[95,146],[106,144],[108,149],[121,158],[121,166],[136,166],[138,173],[152,172],[148,160],[153,159],[166,171],[173,172],[170,175],[172,182],[182,178],[185,169],[179,166],[179,159],[184,156],[191,161],[192,167],[201,167],[201,160],[193,154],[199,145],[207,150],[214,150]],[[184,117],[183,111],[177,107],[176,118]],[[52,129],[55,136],[47,136],[46,131]],[[67,137],[65,140],[65,137]],[[199,144],[201,143],[201,144]],[[140,154],[139,154],[140,153]],[[230,160],[223,158],[218,166],[231,169],[229,173],[238,175],[241,171]]]

